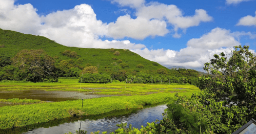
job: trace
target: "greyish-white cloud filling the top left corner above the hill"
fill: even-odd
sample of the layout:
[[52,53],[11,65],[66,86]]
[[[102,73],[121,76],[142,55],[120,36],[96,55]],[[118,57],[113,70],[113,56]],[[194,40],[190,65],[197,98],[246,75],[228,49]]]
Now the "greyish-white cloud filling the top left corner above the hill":
[[31,4],[14,5],[14,0],[0,0],[0,27],[35,34],[41,18]]

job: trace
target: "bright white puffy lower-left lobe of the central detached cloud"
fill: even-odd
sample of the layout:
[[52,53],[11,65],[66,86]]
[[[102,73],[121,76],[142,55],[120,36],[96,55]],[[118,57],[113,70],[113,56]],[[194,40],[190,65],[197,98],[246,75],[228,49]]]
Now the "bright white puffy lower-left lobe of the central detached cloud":
[[128,14],[108,25],[108,36],[113,38],[144,39],[148,36],[164,36],[168,32],[165,21],[141,17],[133,19]]

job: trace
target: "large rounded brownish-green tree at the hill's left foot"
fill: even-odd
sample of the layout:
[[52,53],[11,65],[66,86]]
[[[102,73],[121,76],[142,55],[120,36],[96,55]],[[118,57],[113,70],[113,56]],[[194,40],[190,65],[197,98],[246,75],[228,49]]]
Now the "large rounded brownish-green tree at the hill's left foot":
[[18,71],[19,80],[41,82],[45,79],[57,81],[55,60],[44,50],[22,50],[12,58],[13,65]]

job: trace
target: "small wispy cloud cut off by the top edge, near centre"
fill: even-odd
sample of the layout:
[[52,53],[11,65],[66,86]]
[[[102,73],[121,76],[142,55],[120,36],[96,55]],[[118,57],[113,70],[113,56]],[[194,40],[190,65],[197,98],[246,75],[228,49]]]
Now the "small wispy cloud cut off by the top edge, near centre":
[[144,5],[145,0],[109,0],[111,3],[117,3],[120,6],[129,6],[131,8],[137,8]]

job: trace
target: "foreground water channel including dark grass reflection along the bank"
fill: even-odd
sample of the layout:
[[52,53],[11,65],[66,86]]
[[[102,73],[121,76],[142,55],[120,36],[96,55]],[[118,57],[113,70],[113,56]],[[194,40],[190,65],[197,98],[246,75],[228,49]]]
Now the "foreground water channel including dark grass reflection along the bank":
[[[119,128],[116,124],[121,122],[132,124],[132,127],[141,129],[141,125],[146,126],[147,122],[153,122],[156,119],[162,120],[164,109],[167,108],[165,104],[152,105],[144,107],[144,109],[127,109],[119,110],[114,113],[89,116],[85,118],[66,118],[63,120],[56,120],[56,122],[51,121],[48,123],[35,124],[31,126],[26,126],[23,128],[15,128],[14,130],[6,129],[2,132],[7,133],[61,133],[73,132],[81,128],[86,130],[87,133],[95,132],[97,130],[108,131],[107,133],[114,132],[115,129]],[[129,114],[128,114],[129,113]],[[48,124],[48,125],[46,125]],[[0,130],[0,133],[2,133]]]

